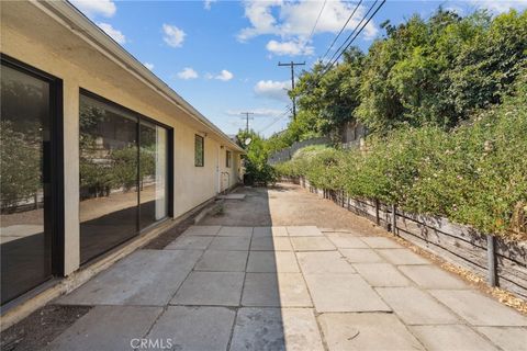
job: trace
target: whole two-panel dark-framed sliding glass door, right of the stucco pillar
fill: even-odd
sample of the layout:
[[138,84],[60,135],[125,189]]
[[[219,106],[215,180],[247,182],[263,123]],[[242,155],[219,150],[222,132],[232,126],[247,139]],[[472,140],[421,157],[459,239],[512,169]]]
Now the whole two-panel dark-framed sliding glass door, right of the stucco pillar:
[[86,262],[168,215],[168,131],[80,95],[80,240]]

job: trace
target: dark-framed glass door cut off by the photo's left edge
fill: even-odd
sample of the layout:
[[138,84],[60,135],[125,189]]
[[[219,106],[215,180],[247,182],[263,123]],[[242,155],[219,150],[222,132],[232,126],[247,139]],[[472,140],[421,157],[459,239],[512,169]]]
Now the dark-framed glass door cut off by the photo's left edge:
[[[20,66],[19,66],[20,65]],[[56,84],[2,57],[0,115],[1,304],[52,278]],[[58,118],[57,118],[58,120]]]

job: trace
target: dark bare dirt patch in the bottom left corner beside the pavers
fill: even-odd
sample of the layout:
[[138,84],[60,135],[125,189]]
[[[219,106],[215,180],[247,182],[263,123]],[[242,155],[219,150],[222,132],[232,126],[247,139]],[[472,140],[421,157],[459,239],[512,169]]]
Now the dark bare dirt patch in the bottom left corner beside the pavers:
[[48,305],[37,309],[27,318],[2,331],[0,349],[41,350],[91,308],[91,306]]

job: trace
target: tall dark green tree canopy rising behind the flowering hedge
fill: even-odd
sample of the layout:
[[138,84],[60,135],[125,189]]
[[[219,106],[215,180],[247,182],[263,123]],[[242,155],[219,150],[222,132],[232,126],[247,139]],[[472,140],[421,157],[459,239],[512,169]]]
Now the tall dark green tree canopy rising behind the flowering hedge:
[[300,76],[290,92],[296,120],[269,139],[270,149],[336,135],[354,120],[374,134],[405,125],[448,131],[500,104],[527,67],[527,11],[462,18],[439,8],[382,27],[367,54],[351,47],[330,69],[318,61]]

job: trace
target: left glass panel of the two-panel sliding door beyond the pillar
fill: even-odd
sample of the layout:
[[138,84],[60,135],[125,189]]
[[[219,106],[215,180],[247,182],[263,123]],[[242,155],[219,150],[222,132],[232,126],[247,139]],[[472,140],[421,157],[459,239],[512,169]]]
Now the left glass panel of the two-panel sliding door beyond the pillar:
[[80,99],[80,260],[137,231],[137,116]]

